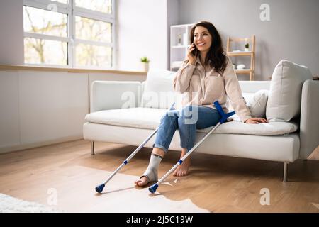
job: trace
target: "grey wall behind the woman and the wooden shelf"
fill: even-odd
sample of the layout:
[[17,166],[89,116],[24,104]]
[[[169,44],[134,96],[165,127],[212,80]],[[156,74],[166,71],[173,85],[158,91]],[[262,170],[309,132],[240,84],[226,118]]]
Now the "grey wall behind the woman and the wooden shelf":
[[[270,21],[259,18],[264,3],[269,4]],[[281,59],[306,65],[319,75],[318,0],[179,1],[179,23],[201,20],[214,23],[224,45],[228,36],[256,35],[256,80],[269,79]],[[250,64],[237,59],[238,64]]]

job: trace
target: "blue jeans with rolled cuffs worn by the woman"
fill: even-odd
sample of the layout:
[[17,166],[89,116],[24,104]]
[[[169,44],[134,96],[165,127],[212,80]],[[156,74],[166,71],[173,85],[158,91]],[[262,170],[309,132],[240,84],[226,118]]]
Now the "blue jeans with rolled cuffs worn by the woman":
[[215,126],[220,120],[216,109],[206,106],[186,106],[181,110],[169,110],[162,116],[153,148],[167,153],[173,135],[179,129],[181,148],[191,150],[195,145],[196,128]]

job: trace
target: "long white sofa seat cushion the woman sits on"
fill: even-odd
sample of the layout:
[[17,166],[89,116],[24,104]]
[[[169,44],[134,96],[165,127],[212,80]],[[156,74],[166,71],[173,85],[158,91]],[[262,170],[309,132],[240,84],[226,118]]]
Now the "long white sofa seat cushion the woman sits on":
[[[101,123],[113,126],[123,126],[131,128],[155,129],[159,125],[160,119],[167,112],[167,109],[155,108],[130,108],[112,109],[97,111],[87,114],[85,119],[91,123]],[[198,131],[208,132],[211,128],[204,128]],[[248,124],[240,122],[239,118],[234,121],[223,123],[216,129],[216,133],[235,133],[248,135],[284,135],[296,131],[298,126],[291,122],[271,122]]]

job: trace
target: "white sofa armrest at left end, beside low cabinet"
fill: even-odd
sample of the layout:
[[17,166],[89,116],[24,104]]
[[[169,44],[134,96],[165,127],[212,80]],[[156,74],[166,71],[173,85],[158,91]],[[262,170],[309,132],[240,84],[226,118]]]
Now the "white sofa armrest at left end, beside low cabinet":
[[94,81],[91,86],[90,112],[137,107],[140,105],[140,93],[140,82]]

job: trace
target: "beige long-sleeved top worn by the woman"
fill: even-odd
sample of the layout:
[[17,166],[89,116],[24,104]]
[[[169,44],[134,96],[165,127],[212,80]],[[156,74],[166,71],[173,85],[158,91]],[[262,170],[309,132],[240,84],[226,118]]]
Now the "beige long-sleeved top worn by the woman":
[[174,77],[173,85],[175,91],[183,94],[182,106],[198,105],[216,109],[213,102],[218,100],[224,111],[228,112],[226,107],[228,96],[242,122],[251,118],[229,57],[223,75],[218,74],[209,65],[204,68],[199,57],[196,59],[196,65],[184,60]]

